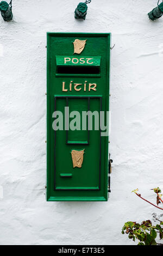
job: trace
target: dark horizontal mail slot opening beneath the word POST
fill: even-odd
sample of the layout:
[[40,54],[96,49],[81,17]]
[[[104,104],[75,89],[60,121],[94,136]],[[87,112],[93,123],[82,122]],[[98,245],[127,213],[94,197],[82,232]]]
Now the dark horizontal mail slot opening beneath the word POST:
[[100,74],[100,66],[57,66],[57,74]]

